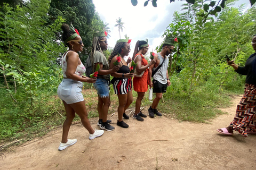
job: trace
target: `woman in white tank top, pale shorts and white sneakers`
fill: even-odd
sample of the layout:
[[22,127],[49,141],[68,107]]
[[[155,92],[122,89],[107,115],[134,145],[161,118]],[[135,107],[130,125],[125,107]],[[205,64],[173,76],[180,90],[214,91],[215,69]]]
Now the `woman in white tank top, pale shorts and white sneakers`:
[[63,80],[58,88],[58,96],[63,101],[67,118],[63,123],[62,140],[59,150],[66,149],[77,141],[76,139],[68,139],[68,131],[76,113],[81,118],[84,128],[89,131],[89,139],[100,137],[104,133],[103,130],[93,130],[87,118],[84,97],[82,95],[83,82],[95,83],[97,79],[87,78],[83,75],[85,67],[78,56],[78,52],[83,50],[83,41],[78,31],[72,25],[70,27],[71,30],[67,24],[62,24],[61,28],[63,30],[62,39],[64,44],[68,46],[68,51],[62,56]]

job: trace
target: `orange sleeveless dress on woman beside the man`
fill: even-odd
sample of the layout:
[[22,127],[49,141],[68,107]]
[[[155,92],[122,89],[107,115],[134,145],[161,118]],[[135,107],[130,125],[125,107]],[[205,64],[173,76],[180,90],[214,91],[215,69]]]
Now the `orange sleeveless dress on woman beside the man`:
[[[135,57],[137,55],[140,55],[142,58],[141,61],[141,66],[145,66],[148,64],[148,61],[143,57],[142,54],[136,54]],[[133,90],[134,91],[138,91],[138,92],[146,92],[148,91],[148,69],[145,70],[145,72],[143,73],[141,78],[138,77],[133,77]]]

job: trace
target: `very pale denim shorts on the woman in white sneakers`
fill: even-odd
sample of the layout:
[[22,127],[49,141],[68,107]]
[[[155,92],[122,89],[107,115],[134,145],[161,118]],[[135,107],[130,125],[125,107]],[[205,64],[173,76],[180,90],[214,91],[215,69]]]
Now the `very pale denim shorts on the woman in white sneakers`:
[[78,103],[84,101],[82,95],[83,83],[72,79],[63,79],[58,87],[58,96],[67,104]]

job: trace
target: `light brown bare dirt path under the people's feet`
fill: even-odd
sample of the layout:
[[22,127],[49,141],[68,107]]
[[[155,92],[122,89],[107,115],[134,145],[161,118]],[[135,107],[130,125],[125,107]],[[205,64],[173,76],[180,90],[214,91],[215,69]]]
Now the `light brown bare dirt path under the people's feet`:
[[[130,118],[125,121],[130,127],[122,129],[115,114],[111,120],[116,129],[93,140],[82,125],[72,125],[69,138],[77,143],[62,151],[59,128],[0,157],[0,169],[256,169],[256,135],[244,138],[235,132],[227,137],[216,131],[233,119],[241,97],[234,97],[231,107],[221,109],[228,114],[211,124],[163,116],[144,122]],[[97,118],[91,123],[99,129]]]

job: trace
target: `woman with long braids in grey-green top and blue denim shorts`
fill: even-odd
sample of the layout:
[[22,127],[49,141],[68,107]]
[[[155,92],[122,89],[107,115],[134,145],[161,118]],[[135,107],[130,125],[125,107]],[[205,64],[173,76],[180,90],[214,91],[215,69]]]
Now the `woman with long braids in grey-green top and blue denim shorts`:
[[100,66],[100,69],[98,70],[97,81],[93,83],[94,88],[98,91],[98,113],[99,113],[98,125],[100,126],[100,129],[113,131],[115,128],[109,124],[111,120],[107,120],[108,108],[110,106],[108,82],[110,81],[109,74],[118,71],[119,65],[116,65],[113,67],[113,69],[109,70],[107,58],[104,56],[102,52],[102,50],[108,49],[106,36],[107,36],[106,31],[94,33],[90,59],[91,59],[91,63],[93,63],[92,64],[93,72],[95,72],[95,69],[98,64]]

